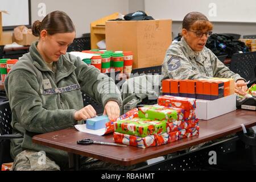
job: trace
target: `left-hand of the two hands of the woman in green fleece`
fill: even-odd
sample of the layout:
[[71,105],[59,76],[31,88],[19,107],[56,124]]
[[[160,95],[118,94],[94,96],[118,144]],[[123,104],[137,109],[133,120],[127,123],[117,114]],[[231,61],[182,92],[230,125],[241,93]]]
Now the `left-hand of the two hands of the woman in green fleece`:
[[91,105],[85,106],[84,108],[75,112],[76,121],[80,121],[81,119],[84,119],[85,121],[86,119],[93,117],[96,117],[96,110]]

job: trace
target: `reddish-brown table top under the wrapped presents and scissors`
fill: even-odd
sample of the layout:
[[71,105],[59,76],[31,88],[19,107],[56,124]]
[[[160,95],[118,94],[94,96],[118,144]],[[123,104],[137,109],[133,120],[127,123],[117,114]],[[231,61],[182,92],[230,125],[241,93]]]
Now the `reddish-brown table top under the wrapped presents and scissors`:
[[133,146],[115,147],[97,144],[81,146],[76,142],[77,140],[85,138],[90,138],[95,141],[114,143],[113,134],[97,136],[82,133],[77,131],[75,128],[36,135],[32,140],[35,143],[64,150],[73,154],[89,156],[106,162],[129,166],[158,156],[170,154],[177,150],[184,150],[185,148],[191,147],[195,144],[237,133],[238,131],[242,131],[241,124],[245,125],[246,128],[256,125],[256,112],[249,110],[236,110],[231,113],[221,115],[220,117],[209,119],[208,121],[200,120],[199,136],[181,139],[173,143],[164,144],[163,146],[144,149]]

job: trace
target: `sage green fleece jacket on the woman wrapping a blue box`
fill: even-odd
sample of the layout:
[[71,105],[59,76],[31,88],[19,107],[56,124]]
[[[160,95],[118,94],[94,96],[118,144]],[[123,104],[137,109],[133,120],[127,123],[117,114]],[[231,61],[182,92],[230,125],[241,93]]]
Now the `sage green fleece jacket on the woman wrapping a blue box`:
[[121,106],[121,93],[112,78],[69,53],[61,55],[53,63],[56,72],[51,71],[37,51],[37,43],[31,45],[30,52],[19,59],[5,80],[13,133],[24,137],[11,140],[11,155],[14,158],[27,149],[46,151],[53,160],[63,162],[68,159],[67,152],[35,144],[32,137],[83,123],[74,118],[75,111],[84,107],[81,92],[104,106],[109,100]]

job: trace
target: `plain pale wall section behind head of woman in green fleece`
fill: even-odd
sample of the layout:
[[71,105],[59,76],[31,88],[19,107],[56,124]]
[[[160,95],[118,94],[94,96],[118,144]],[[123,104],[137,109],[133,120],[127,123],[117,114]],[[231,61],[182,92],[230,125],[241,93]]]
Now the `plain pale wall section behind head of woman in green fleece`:
[[119,12],[129,13],[129,0],[31,0],[31,22],[42,20],[38,16],[39,3],[46,5],[46,14],[55,10],[62,10],[67,13],[76,26],[76,37],[90,32],[90,22],[104,16]]

